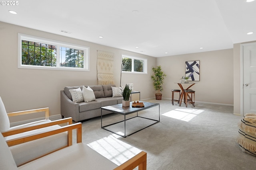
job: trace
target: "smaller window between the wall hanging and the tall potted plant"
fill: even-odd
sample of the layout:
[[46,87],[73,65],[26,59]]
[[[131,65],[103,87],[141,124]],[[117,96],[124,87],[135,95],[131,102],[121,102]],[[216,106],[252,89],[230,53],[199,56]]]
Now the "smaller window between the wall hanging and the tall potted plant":
[[147,59],[122,55],[122,72],[147,73]]

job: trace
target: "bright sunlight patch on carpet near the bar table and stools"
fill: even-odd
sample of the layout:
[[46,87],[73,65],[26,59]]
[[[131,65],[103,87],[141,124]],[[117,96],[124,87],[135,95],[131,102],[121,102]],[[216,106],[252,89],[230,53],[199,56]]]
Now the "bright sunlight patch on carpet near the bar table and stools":
[[171,111],[168,111],[166,113],[163,113],[163,116],[171,117],[174,119],[182,120],[182,121],[190,121],[194,117],[196,117],[198,114],[202,113],[204,110],[202,109],[174,109]]

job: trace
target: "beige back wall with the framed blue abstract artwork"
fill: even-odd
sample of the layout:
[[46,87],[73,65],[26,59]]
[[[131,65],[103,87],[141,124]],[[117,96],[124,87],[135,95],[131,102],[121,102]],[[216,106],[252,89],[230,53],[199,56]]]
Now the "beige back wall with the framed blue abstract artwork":
[[[196,101],[233,104],[233,49],[161,57],[157,65],[167,74],[163,98],[171,98],[172,89],[180,89],[175,82],[185,76],[186,61],[200,61],[200,81],[191,89]],[[184,85],[184,87],[187,86]]]

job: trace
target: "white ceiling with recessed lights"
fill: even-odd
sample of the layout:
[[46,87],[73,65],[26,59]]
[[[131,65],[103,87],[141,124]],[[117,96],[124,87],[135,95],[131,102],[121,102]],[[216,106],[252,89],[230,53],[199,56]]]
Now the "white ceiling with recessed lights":
[[20,0],[0,6],[0,21],[152,57],[256,41],[256,1],[246,0]]

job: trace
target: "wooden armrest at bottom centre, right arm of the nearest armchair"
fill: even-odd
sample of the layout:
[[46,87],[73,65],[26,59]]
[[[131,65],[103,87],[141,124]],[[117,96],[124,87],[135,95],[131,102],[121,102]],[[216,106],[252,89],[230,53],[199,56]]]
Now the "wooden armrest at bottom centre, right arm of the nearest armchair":
[[130,158],[120,166],[116,167],[114,170],[133,170],[139,166],[138,170],[146,170],[147,169],[147,153],[141,151],[136,154],[134,157]]

